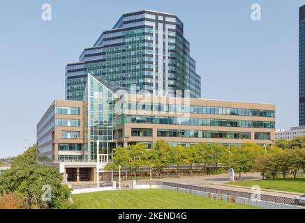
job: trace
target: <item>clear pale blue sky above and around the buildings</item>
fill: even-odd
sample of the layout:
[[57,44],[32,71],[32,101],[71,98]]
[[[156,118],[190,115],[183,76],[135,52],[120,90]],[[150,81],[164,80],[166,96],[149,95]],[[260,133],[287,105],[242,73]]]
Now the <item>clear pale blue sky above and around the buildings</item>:
[[[41,20],[50,3],[52,21]],[[251,20],[260,3],[262,20]],[[36,141],[36,123],[64,99],[64,69],[121,14],[177,14],[202,77],[202,97],[276,105],[276,128],[298,125],[298,8],[301,0],[31,0],[0,7],[0,157]]]

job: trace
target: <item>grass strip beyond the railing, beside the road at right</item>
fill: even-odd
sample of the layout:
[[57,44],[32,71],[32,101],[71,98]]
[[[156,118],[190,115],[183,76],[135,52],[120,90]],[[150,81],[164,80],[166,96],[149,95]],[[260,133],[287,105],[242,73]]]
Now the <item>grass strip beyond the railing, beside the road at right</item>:
[[244,187],[251,187],[252,185],[260,185],[260,187],[264,189],[283,190],[288,192],[297,192],[297,193],[305,194],[305,178],[244,180],[244,181],[235,181],[228,184],[244,186]]

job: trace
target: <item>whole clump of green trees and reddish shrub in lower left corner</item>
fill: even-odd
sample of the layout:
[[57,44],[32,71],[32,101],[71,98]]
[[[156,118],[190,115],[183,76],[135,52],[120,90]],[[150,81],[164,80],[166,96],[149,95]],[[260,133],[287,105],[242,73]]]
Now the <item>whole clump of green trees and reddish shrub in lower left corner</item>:
[[70,189],[62,185],[57,167],[36,164],[36,145],[12,162],[0,175],[1,208],[72,208]]

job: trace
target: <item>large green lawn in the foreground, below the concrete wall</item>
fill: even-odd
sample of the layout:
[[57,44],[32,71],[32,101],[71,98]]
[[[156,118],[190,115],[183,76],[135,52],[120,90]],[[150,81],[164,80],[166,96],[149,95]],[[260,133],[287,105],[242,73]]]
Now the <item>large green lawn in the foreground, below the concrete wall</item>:
[[216,201],[184,192],[163,189],[116,190],[73,194],[73,203],[79,209],[252,209],[228,201]]

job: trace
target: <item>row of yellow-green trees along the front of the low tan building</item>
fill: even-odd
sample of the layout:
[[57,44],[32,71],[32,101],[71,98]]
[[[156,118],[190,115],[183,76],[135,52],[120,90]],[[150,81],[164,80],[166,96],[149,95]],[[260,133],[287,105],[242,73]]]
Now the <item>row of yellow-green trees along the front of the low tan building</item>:
[[154,147],[147,150],[143,144],[129,145],[127,148],[114,148],[113,162],[106,169],[118,169],[119,165],[125,171],[134,171],[135,176],[141,167],[150,167],[164,171],[170,164],[214,164],[217,168],[232,167],[240,176],[255,169],[255,161],[265,154],[274,155],[284,150],[277,146],[262,147],[257,144],[245,143],[241,146],[224,146],[220,144],[194,144],[189,147],[170,146],[163,140],[158,140]]

